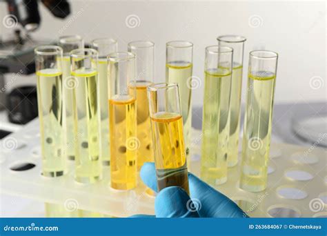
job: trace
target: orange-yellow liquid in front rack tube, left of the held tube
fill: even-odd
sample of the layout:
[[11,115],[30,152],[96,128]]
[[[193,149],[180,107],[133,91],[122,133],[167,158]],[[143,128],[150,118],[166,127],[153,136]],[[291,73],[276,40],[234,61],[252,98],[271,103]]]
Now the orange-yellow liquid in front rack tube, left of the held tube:
[[109,99],[111,187],[137,186],[136,100],[130,96]]

